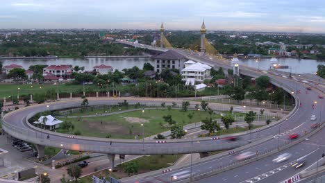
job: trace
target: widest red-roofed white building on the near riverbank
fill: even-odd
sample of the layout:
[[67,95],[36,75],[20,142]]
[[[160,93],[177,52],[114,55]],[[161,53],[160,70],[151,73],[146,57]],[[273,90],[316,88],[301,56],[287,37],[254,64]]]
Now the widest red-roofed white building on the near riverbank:
[[72,71],[72,67],[67,65],[50,65],[49,67],[45,67],[43,69],[43,76],[53,75],[57,77],[69,78]]

